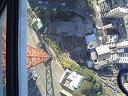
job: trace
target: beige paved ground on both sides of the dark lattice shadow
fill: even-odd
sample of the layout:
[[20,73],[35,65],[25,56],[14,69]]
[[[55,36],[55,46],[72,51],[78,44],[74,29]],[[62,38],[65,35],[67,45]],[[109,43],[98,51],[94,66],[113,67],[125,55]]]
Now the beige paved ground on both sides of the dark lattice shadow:
[[[53,77],[53,87],[55,96],[60,96],[59,92],[62,90],[59,80],[64,72],[63,68],[57,64],[55,60],[52,61],[52,77]],[[43,96],[46,96],[46,68],[44,64],[38,65],[34,68],[39,79],[37,80],[37,86]],[[34,88],[34,87],[33,87]],[[38,96],[38,95],[37,95]]]

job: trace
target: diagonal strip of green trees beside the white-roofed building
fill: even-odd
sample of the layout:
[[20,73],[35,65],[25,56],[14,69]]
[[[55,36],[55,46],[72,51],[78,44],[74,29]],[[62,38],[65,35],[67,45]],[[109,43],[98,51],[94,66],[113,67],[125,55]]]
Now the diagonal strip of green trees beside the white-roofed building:
[[[87,96],[94,96],[94,94],[96,95],[98,92],[102,92],[102,82],[100,77],[96,76],[92,70],[86,67],[82,68],[74,60],[66,57],[61,49],[47,35],[44,35],[43,38],[47,42],[48,46],[53,49],[58,62],[62,64],[64,68],[71,69],[85,77],[85,80],[80,85],[79,90],[81,93],[86,93]],[[79,92],[74,96],[81,96],[77,94],[79,94]]]

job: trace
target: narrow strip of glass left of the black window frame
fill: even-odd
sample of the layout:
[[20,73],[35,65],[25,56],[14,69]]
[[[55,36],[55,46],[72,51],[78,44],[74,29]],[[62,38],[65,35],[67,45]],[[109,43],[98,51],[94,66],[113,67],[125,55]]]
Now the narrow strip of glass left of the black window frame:
[[[0,49],[0,54],[2,58],[0,58],[2,63],[0,64],[0,85],[2,85],[3,89],[0,90],[0,95],[4,95],[6,93],[6,8],[0,15],[0,45],[2,45],[2,49]],[[2,78],[1,78],[2,77]],[[0,86],[1,87],[1,86]]]

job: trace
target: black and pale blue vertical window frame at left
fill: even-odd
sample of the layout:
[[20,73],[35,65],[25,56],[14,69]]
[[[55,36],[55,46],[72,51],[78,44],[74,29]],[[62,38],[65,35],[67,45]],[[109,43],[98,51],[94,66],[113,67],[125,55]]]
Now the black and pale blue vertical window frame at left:
[[[5,12],[7,16],[3,16]],[[28,96],[27,1],[0,0],[0,20],[6,19],[6,96]],[[0,24],[2,28],[2,23]],[[0,33],[2,46],[2,32]],[[0,96],[3,96],[2,47],[0,48]]]

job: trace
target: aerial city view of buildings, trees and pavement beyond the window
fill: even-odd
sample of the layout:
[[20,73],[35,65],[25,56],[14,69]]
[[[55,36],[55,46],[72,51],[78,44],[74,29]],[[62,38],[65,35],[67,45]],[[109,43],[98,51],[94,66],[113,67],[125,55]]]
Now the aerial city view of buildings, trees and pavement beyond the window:
[[27,44],[48,54],[28,69],[28,96],[126,96],[127,0],[28,0],[27,13]]

